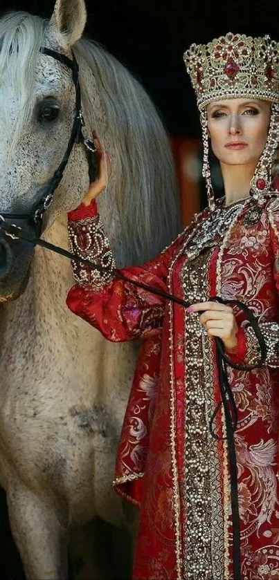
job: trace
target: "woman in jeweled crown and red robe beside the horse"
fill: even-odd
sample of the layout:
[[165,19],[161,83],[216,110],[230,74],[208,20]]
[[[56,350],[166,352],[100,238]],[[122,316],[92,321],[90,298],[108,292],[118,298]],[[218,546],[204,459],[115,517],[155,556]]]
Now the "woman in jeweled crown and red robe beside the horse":
[[[190,301],[187,311],[113,277],[93,199],[104,170],[69,214],[72,250],[105,268],[100,274],[73,266],[78,285],[69,308],[109,340],[145,339],[120,440],[123,477],[116,480],[141,503],[137,579],[279,579],[279,191],[276,179],[271,183],[278,55],[269,37],[231,33],[184,55],[201,112],[209,207],[157,259],[121,272]],[[208,139],[224,178],[217,203]],[[267,346],[260,368],[228,369],[238,419],[237,490],[213,337],[232,362],[256,364],[260,353],[244,313],[210,300],[216,295],[244,302]],[[136,480],[141,486],[131,485]]]

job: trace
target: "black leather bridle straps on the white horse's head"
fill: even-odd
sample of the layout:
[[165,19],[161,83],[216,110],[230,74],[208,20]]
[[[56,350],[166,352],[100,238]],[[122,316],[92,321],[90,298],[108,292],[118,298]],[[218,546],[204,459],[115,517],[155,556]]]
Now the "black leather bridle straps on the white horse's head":
[[40,52],[43,55],[48,55],[53,57],[58,62],[61,62],[68,68],[71,68],[73,84],[75,85],[75,118],[73,121],[73,127],[71,130],[71,135],[69,138],[69,143],[66,148],[66,152],[60,163],[60,166],[56,169],[51,180],[44,186],[44,193],[39,201],[33,206],[29,214],[8,214],[1,212],[1,216],[4,220],[15,219],[15,220],[25,220],[29,225],[33,225],[36,230],[37,236],[42,232],[42,221],[44,213],[53,203],[53,196],[55,189],[57,189],[60,181],[62,180],[64,169],[69,161],[71,151],[75,143],[81,143],[84,145],[87,151],[87,160],[89,165],[89,179],[90,182],[96,179],[97,171],[97,150],[93,141],[85,139],[82,133],[82,127],[84,126],[84,120],[82,117],[82,105],[81,105],[81,93],[80,93],[80,80],[79,80],[79,66],[75,59],[75,55],[72,53],[73,59],[69,59],[66,55],[62,53],[57,53],[56,50],[51,50],[51,48],[42,47]]

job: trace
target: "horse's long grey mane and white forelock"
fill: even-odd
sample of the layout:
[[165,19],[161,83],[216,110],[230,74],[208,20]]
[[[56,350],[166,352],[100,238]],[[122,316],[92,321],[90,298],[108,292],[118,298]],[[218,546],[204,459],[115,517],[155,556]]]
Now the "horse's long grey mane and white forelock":
[[[21,119],[12,147],[34,108],[35,66],[48,22],[27,12],[0,19],[0,77],[17,86]],[[56,48],[56,47],[55,47]],[[80,40],[74,47],[81,69],[84,114],[89,129],[109,143],[114,178],[104,200],[106,223],[117,215],[121,263],[137,263],[159,252],[179,230],[177,185],[168,137],[143,87],[105,48]],[[15,58],[16,55],[16,58]],[[87,89],[88,67],[105,115],[96,115],[96,95]],[[5,80],[6,79],[6,80]],[[119,248],[118,248],[119,250]]]

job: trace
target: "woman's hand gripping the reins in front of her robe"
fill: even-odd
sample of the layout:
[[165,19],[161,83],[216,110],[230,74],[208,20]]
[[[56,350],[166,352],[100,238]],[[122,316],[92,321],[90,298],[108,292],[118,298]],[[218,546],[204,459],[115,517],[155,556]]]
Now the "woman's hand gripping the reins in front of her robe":
[[219,302],[199,302],[187,308],[187,312],[202,312],[199,321],[209,337],[219,337],[227,351],[237,345],[237,322],[233,308]]

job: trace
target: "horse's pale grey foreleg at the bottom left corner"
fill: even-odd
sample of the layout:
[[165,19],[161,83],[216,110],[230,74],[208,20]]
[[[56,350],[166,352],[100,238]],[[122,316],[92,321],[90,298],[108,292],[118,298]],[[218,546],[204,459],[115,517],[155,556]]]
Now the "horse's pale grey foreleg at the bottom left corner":
[[7,494],[10,527],[28,580],[66,580],[66,533],[55,510],[21,485]]

